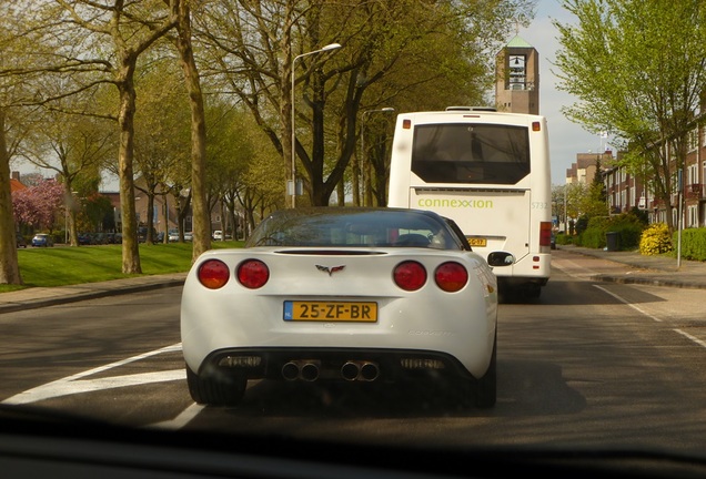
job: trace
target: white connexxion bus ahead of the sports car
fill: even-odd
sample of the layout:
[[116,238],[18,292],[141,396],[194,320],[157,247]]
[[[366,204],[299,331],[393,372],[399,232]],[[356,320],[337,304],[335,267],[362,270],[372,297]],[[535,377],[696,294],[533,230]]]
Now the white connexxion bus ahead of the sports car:
[[552,180],[546,119],[452,106],[397,116],[389,206],[453,218],[472,248],[512,253],[501,293],[536,298],[551,273]]

